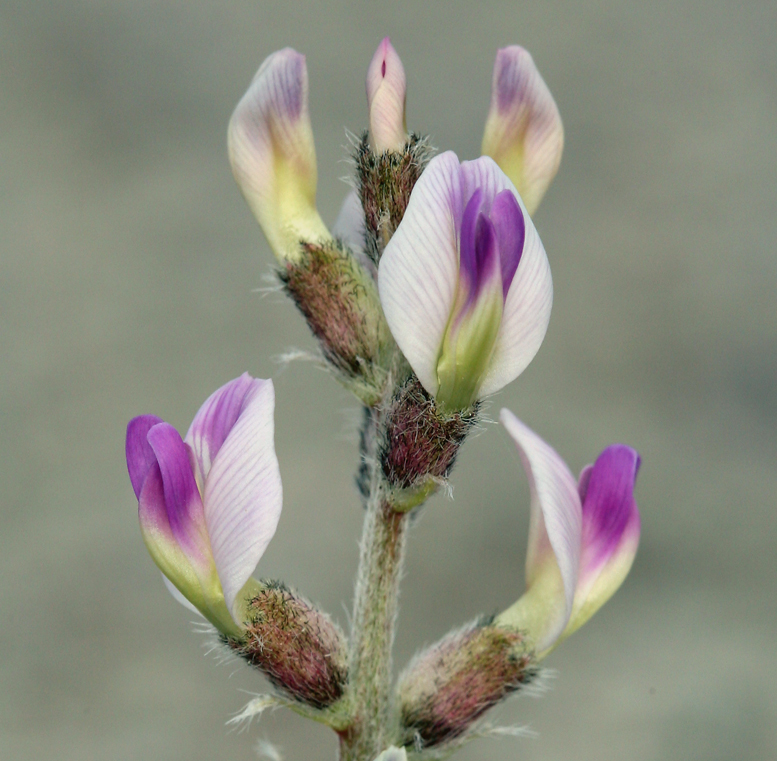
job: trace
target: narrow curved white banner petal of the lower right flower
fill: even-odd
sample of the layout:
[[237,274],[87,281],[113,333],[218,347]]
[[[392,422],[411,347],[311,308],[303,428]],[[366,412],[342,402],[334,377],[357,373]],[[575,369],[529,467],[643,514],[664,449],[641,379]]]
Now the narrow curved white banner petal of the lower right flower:
[[539,653],[550,648],[572,612],[582,535],[577,484],[566,463],[512,412],[499,416],[518,447],[531,491],[527,591],[497,622],[526,629]]

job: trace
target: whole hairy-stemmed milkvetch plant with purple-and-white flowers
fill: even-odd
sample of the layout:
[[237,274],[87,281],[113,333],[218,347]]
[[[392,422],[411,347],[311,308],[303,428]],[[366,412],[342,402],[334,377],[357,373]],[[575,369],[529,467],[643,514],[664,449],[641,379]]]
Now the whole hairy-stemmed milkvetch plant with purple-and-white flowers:
[[483,734],[488,710],[532,682],[618,589],[640,534],[634,449],[611,445],[575,478],[502,410],[529,482],[525,589],[506,577],[514,604],[444,636],[392,680],[412,516],[447,483],[482,400],[526,369],[548,327],[550,266],[531,215],[563,147],[556,104],[522,48],[497,54],[480,157],[434,155],[408,133],[406,89],[386,38],[367,71],[354,190],[331,229],[316,208],[304,56],[270,55],[228,130],[278,279],[321,363],[363,407],[349,635],[297,591],[252,575],[282,506],[271,380],[226,383],[183,437],[154,415],[126,434],[141,534],[167,588],[273,686],[238,719],[286,705],[330,726],[344,761],[437,758]]

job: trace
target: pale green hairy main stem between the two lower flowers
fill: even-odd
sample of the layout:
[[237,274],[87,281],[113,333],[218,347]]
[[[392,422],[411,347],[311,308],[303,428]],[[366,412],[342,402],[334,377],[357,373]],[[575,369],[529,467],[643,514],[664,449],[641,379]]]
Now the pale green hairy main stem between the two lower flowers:
[[[378,416],[371,421],[379,425]],[[407,533],[406,514],[385,499],[379,465],[368,459],[370,494],[356,584],[348,700],[353,722],[340,734],[342,761],[370,761],[390,744],[391,649]]]

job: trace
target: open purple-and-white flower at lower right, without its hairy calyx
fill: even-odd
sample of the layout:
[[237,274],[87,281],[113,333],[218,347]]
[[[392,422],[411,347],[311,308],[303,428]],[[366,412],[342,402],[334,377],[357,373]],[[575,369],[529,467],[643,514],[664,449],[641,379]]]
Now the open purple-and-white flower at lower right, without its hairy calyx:
[[495,623],[526,631],[540,657],[615,594],[637,553],[639,454],[613,444],[575,481],[566,463],[507,409],[531,491],[525,594]]

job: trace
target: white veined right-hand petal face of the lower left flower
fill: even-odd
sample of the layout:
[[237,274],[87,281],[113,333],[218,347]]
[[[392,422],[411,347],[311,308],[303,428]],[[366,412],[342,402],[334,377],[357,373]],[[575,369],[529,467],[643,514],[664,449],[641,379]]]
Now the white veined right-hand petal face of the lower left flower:
[[274,407],[272,381],[253,379],[205,483],[205,520],[224,600],[233,617],[236,597],[272,539],[281,514]]

